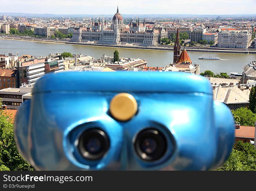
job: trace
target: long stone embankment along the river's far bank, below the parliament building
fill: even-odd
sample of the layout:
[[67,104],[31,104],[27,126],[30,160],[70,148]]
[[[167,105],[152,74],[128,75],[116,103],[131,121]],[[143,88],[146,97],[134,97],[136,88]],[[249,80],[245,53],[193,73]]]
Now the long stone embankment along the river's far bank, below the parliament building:
[[[128,49],[145,49],[145,50],[161,50],[161,51],[173,51],[173,47],[144,47],[135,45],[116,45],[116,44],[97,44],[97,43],[85,43],[85,42],[69,42],[63,40],[49,40],[49,39],[38,39],[38,38],[24,38],[24,37],[3,37],[0,40],[20,40],[28,42],[43,42],[53,44],[72,44],[72,45],[83,45],[83,46],[96,46],[96,47],[112,47],[112,48],[128,48]],[[188,52],[202,52],[202,53],[234,53],[234,54],[256,54],[256,49],[250,49],[248,51],[244,49],[224,49],[224,48],[204,48],[204,47],[189,47],[186,48]]]

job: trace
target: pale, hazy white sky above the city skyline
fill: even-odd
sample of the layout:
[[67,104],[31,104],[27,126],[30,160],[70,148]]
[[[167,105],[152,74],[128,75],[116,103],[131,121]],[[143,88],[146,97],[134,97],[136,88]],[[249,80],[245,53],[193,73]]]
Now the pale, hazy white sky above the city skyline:
[[256,0],[0,0],[0,12],[49,14],[256,14]]

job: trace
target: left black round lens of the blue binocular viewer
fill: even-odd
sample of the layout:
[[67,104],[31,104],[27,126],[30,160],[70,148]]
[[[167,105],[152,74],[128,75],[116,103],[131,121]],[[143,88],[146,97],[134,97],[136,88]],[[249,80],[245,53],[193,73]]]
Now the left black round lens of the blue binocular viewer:
[[89,129],[80,136],[78,147],[84,158],[98,160],[108,151],[109,138],[100,129]]

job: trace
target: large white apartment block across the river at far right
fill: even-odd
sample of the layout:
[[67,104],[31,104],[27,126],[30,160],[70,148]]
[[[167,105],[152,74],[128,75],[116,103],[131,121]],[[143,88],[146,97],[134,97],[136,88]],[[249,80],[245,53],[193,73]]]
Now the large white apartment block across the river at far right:
[[248,48],[252,33],[248,30],[221,31],[218,33],[218,47],[220,48]]

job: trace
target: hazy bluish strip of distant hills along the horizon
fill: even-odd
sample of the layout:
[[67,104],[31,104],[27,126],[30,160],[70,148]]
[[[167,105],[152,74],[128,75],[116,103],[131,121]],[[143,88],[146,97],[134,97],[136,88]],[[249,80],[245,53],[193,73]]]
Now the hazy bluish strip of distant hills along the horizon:
[[[47,17],[47,18],[59,18],[59,17],[71,17],[71,18],[81,18],[81,17],[102,17],[101,14],[91,15],[91,14],[71,14],[71,15],[55,15],[55,14],[37,14],[37,13],[0,13],[1,15],[8,16],[21,16],[21,17]],[[237,18],[237,17],[256,17],[256,14],[236,14],[236,15],[192,15],[192,14],[122,14],[123,17],[140,17],[140,18],[216,18],[220,16],[221,18]],[[111,15],[104,15],[104,17],[113,17]]]

